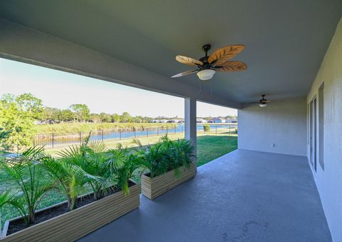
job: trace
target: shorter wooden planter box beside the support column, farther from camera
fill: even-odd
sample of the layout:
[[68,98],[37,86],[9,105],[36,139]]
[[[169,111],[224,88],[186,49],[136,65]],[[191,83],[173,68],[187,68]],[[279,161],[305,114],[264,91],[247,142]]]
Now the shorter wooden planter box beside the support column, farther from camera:
[[179,178],[175,176],[175,170],[167,171],[167,173],[155,176],[154,178],[143,174],[141,176],[141,193],[147,196],[147,198],[155,199],[157,196],[162,195],[162,193],[194,177],[195,173],[196,168],[191,164],[189,168],[185,168],[184,166],[180,167],[181,176]]

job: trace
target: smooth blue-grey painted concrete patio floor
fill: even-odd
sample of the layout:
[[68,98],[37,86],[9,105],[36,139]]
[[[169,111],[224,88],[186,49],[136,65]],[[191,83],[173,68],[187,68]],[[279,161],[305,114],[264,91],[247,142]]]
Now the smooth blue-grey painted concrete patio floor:
[[303,156],[237,150],[80,241],[331,241]]

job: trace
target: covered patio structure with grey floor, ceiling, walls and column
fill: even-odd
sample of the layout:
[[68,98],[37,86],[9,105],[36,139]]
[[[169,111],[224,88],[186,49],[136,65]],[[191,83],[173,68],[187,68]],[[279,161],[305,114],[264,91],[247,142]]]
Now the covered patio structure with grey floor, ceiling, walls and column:
[[[197,101],[238,109],[239,150],[81,241],[342,241],[341,15],[341,0],[1,1],[1,58],[182,97],[195,148]],[[205,44],[244,45],[248,68],[171,78]]]

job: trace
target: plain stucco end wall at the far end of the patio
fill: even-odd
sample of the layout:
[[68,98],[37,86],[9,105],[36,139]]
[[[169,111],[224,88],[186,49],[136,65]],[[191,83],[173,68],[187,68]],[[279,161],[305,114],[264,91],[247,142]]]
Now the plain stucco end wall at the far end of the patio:
[[306,156],[306,99],[254,104],[238,112],[242,149]]

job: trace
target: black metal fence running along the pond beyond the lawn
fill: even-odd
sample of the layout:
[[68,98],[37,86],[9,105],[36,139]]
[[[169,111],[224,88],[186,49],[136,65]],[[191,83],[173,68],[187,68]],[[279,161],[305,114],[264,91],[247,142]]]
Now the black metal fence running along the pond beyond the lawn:
[[[237,133],[237,125],[209,125],[209,131],[204,131],[203,125],[197,126],[200,133]],[[33,137],[33,145],[45,148],[57,148],[81,144],[89,136],[90,141],[115,141],[127,138],[150,136],[165,136],[168,133],[184,133],[184,126],[171,128],[118,129],[76,133],[43,133]]]

